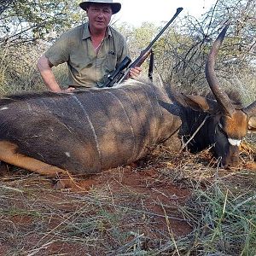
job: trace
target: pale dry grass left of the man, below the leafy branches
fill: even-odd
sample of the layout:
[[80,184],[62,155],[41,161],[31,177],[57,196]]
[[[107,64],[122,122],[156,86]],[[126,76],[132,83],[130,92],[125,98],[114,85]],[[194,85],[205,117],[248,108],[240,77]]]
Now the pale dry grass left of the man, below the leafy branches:
[[[26,91],[46,90],[38,72],[37,62],[46,46],[19,45],[0,49],[0,95]],[[62,87],[67,87],[67,65],[54,67],[55,78]]]

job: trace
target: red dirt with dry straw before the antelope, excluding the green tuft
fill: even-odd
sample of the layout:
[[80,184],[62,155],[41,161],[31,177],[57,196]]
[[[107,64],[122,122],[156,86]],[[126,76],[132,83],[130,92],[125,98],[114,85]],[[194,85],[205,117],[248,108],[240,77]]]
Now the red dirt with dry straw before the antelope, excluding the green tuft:
[[195,228],[185,207],[192,179],[180,170],[204,173],[203,186],[216,174],[211,158],[151,155],[61,190],[49,177],[10,170],[0,180],[0,255],[168,255],[160,253],[168,241]]

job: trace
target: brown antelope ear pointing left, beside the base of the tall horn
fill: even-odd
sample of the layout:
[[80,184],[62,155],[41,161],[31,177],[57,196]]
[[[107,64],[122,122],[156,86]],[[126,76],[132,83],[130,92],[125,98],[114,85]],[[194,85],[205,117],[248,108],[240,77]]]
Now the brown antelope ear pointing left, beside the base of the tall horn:
[[212,113],[216,112],[218,109],[218,103],[216,101],[203,96],[183,95],[183,100],[189,108],[192,108],[195,111]]

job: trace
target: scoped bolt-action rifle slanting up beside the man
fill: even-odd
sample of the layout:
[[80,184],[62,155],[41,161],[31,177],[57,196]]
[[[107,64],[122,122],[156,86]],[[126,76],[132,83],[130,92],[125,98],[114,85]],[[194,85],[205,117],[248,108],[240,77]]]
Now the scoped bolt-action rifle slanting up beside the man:
[[[173,20],[176,19],[177,15],[179,15],[179,13],[183,10],[182,7],[177,8],[177,11],[175,13],[175,15],[173,15],[172,19],[168,21],[168,23],[166,24],[166,26],[164,26],[161,31],[157,34],[157,36],[153,39],[153,41],[148,44],[146,49],[143,49],[143,51],[141,52],[141,54],[137,57],[137,59],[135,61],[133,61],[131,63],[131,59],[129,57],[125,57],[125,59],[120,63],[119,67],[117,67],[113,73],[108,74],[108,81],[102,86],[102,87],[113,87],[114,84],[119,84],[122,81],[124,81],[125,79],[128,78],[129,72],[131,70],[131,68],[133,67],[140,67],[143,62],[147,59],[148,55],[151,52],[152,46],[155,43],[156,40],[158,40],[158,38],[160,38],[160,35],[165,32],[166,28],[168,26],[170,26],[170,24],[172,23]],[[129,64],[131,63],[131,65],[129,66]],[[128,67],[129,66],[129,67]],[[126,70],[125,70],[126,68]],[[125,72],[124,72],[125,70]]]

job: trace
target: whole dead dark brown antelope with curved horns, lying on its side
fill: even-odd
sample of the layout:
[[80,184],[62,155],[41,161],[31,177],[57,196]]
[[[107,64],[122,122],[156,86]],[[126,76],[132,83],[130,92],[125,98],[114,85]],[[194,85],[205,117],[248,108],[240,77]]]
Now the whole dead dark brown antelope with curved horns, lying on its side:
[[213,65],[226,29],[207,61],[214,100],[135,80],[75,93],[9,96],[0,100],[0,160],[47,175],[92,174],[138,160],[158,143],[179,150],[182,139],[199,130],[189,148],[213,145],[223,166],[236,165],[242,138],[255,131],[256,102],[237,108],[218,85]]

